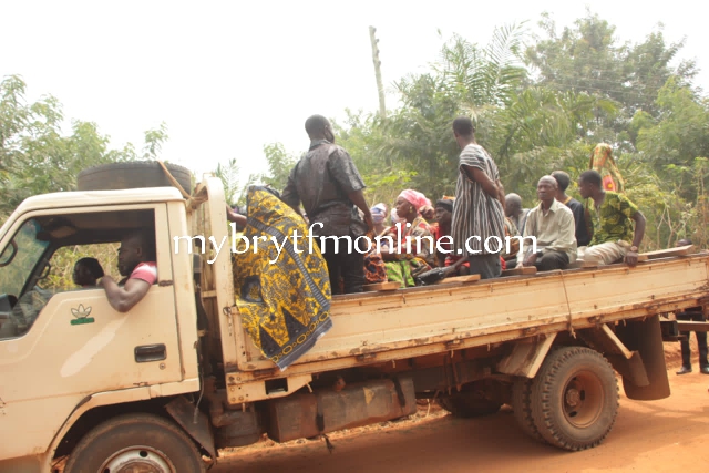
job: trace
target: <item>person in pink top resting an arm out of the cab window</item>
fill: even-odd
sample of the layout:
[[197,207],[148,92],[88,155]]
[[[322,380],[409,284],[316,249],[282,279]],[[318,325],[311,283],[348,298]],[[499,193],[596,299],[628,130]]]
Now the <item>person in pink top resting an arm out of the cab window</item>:
[[109,275],[99,281],[109,298],[109,304],[119,312],[127,312],[143,300],[157,280],[155,264],[155,238],[144,232],[133,232],[121,240],[119,271],[125,276],[120,284]]

